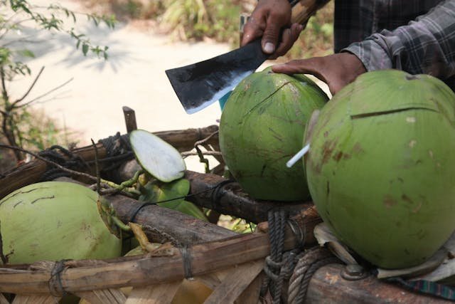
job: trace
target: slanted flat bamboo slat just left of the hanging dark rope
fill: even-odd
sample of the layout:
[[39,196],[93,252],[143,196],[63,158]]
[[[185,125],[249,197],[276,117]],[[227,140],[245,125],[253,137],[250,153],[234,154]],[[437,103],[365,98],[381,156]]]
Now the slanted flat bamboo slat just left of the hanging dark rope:
[[[232,304],[255,280],[264,267],[264,260],[236,266],[230,274],[213,290],[204,304]],[[245,302],[246,303],[246,302]]]

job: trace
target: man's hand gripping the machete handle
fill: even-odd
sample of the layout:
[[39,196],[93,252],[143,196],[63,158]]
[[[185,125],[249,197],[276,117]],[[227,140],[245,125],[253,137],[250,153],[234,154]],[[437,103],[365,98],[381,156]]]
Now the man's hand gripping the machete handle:
[[[281,41],[279,34],[282,31]],[[243,28],[241,45],[262,37],[262,51],[271,59],[284,55],[299,38],[304,26],[291,24],[291,4],[288,0],[260,0]]]

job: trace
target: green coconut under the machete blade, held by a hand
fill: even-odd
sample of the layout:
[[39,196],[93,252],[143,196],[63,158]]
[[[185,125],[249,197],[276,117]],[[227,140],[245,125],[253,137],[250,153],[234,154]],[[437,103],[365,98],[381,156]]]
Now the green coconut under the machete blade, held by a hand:
[[301,149],[311,112],[327,95],[304,75],[253,73],[223,109],[220,150],[233,177],[255,199],[294,201],[309,196],[304,169],[286,167]]

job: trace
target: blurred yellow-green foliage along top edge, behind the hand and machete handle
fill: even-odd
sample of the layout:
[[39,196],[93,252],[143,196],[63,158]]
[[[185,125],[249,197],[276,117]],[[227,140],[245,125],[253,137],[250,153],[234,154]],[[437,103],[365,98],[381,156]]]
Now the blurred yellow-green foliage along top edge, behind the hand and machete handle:
[[[146,19],[178,41],[212,40],[239,45],[240,15],[250,15],[256,0],[84,0],[122,21]],[[282,61],[333,53],[333,1],[307,23],[299,41]]]

